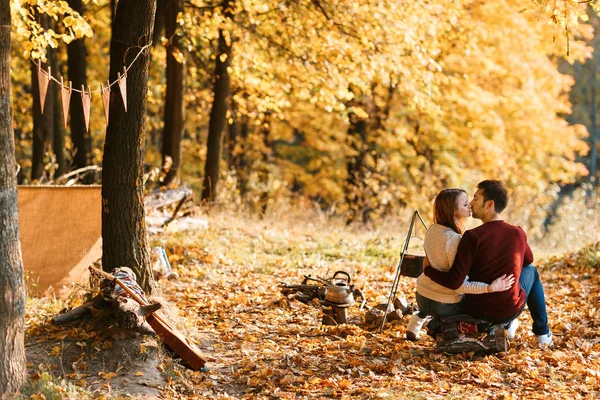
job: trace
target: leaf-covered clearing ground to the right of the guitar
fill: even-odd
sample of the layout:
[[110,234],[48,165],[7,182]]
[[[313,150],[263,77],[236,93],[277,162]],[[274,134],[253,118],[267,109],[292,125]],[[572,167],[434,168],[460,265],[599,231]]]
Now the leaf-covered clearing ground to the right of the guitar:
[[[212,359],[206,372],[165,368],[166,398],[600,397],[600,277],[579,253],[538,264],[553,348],[535,345],[525,311],[508,352],[446,355],[429,337],[406,341],[407,317],[380,334],[360,325],[355,306],[354,324],[324,327],[318,307],[277,287],[344,270],[374,306],[389,294],[403,233],[282,224],[222,217],[206,231],[158,238],[180,276],[160,282],[163,295],[178,309],[178,327]],[[409,301],[414,288],[400,278]]]

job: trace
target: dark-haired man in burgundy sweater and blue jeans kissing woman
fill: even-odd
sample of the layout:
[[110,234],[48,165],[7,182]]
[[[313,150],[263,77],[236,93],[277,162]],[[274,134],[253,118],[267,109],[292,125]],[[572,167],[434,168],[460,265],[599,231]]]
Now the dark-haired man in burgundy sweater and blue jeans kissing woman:
[[527,236],[523,229],[507,224],[500,217],[507,203],[508,195],[502,182],[480,182],[471,201],[471,210],[473,218],[481,219],[483,225],[463,234],[448,272],[425,268],[424,273],[450,289],[459,288],[467,274],[469,280],[486,283],[504,274],[514,274],[519,285],[507,291],[465,295],[464,312],[496,324],[510,322],[508,336],[513,339],[518,327],[517,317],[527,304],[537,342],[552,345],[544,289],[537,270],[531,265],[533,253],[527,244]]

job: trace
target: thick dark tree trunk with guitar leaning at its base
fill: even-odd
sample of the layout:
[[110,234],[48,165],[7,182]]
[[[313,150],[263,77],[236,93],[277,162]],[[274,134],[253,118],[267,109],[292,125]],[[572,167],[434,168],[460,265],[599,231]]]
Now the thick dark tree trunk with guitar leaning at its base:
[[[131,43],[150,43],[156,0],[120,1],[110,46],[110,81],[136,56]],[[118,86],[110,111],[102,161],[102,268],[133,269],[138,283],[151,291],[152,274],[144,220],[144,152],[148,54],[127,73],[127,112]]]

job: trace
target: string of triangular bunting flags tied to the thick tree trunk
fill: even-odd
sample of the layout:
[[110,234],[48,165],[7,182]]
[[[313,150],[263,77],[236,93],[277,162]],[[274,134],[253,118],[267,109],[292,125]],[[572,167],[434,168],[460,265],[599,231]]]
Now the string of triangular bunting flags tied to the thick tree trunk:
[[40,107],[42,114],[44,113],[44,106],[46,103],[46,95],[48,93],[48,85],[50,81],[54,81],[60,85],[60,98],[62,102],[63,109],[63,123],[65,128],[67,127],[67,116],[69,112],[69,104],[71,102],[71,96],[73,92],[77,92],[81,94],[81,103],[83,107],[83,119],[85,122],[85,129],[89,132],[90,126],[90,109],[92,103],[92,93],[100,93],[102,97],[102,105],[104,106],[104,117],[106,118],[106,124],[108,124],[108,109],[109,109],[109,100],[110,100],[110,89],[113,85],[119,85],[119,90],[121,92],[121,97],[123,98],[123,105],[125,107],[125,112],[127,112],[127,71],[133,66],[138,57],[152,45],[152,43],[147,44],[142,47],[138,54],[135,56],[133,61],[129,64],[128,67],[123,67],[123,74],[117,73],[117,79],[114,82],[107,81],[107,86],[105,87],[102,83],[99,85],[100,89],[91,90],[88,85],[87,89],[84,85],[81,85],[81,90],[73,88],[73,83],[69,81],[68,86],[65,84],[63,78],[60,78],[60,81],[52,76],[52,70],[48,67],[47,71],[42,69],[42,63],[37,60],[33,60],[34,63],[38,67],[37,76],[39,83],[39,96],[40,96]]

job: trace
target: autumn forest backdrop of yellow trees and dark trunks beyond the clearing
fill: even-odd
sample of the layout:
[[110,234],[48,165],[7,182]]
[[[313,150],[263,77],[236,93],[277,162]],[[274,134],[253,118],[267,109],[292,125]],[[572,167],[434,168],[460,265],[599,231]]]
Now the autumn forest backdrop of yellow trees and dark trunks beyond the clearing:
[[[54,82],[36,110],[32,60],[99,89],[115,2],[11,3],[18,179],[68,183],[56,179],[102,163],[101,96],[89,133],[77,93],[63,128]],[[598,17],[537,4],[159,1],[146,189],[184,182],[222,207],[377,223],[495,178],[510,220],[540,238],[561,196],[598,181]],[[79,183],[99,181],[87,172]]]

